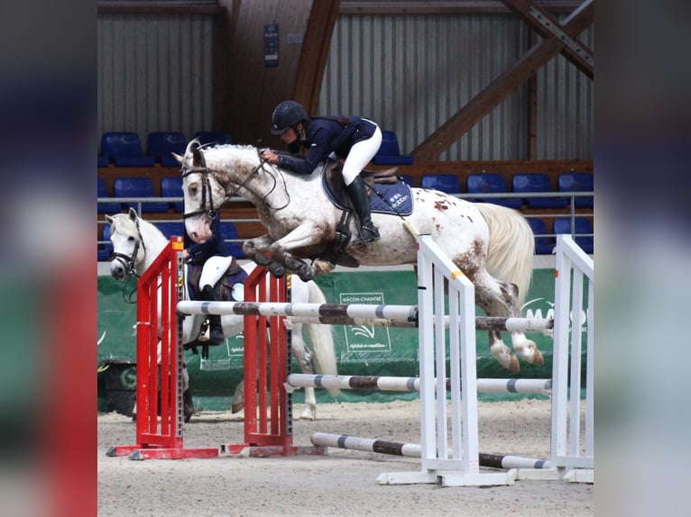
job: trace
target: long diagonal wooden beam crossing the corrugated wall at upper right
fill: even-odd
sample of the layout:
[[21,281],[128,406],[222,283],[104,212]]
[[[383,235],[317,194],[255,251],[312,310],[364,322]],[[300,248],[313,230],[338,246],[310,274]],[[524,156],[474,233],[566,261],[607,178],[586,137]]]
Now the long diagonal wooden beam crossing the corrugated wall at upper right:
[[[574,13],[564,21],[563,31],[574,38],[593,23],[593,0],[585,0]],[[436,161],[438,156],[461,138],[486,113],[502,103],[519,86],[554,58],[565,47],[565,43],[554,34],[534,45],[513,67],[493,80],[482,92],[463,106],[438,130],[422,141],[411,154],[416,161]]]

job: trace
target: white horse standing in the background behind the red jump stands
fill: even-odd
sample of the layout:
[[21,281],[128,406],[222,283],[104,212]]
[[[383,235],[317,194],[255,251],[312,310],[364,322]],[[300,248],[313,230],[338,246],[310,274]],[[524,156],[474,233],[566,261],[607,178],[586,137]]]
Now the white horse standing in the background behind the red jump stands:
[[[116,280],[126,280],[131,275],[140,277],[151,266],[161,250],[165,248],[169,240],[152,222],[139,217],[130,208],[128,213],[116,213],[106,215],[106,222],[111,224],[110,240],[113,243],[113,259],[110,262],[110,274]],[[247,263],[243,266],[249,275],[256,265]],[[298,277],[291,281],[291,300],[294,303],[325,304],[326,297],[314,281],[303,282]],[[204,316],[186,316],[182,325],[182,345],[203,345],[198,342],[199,331],[204,321]],[[221,318],[224,335],[233,336],[243,331],[244,316],[230,314]],[[331,330],[326,325],[304,324],[291,322],[286,319],[286,327],[292,330],[290,352],[299,363],[303,373],[311,374],[316,369],[319,374],[336,375],[336,352]],[[302,337],[302,331],[307,330],[312,345],[311,351]],[[314,368],[313,363],[314,362]],[[183,370],[187,373],[187,368]],[[187,377],[185,375],[185,377]],[[187,379],[183,379],[183,389],[187,391]],[[337,397],[339,390],[328,390]],[[186,404],[187,405],[187,404]],[[235,387],[232,409],[237,413],[244,407],[244,383]],[[189,416],[186,408],[186,416]],[[317,399],[314,388],[305,388],[305,408],[300,414],[300,419],[315,420],[317,418]]]

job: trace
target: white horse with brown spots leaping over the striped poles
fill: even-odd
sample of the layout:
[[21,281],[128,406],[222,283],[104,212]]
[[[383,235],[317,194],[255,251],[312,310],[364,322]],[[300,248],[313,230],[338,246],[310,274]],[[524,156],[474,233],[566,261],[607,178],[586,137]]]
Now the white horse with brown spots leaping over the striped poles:
[[[521,316],[532,277],[535,239],[526,219],[513,209],[471,203],[428,188],[402,190],[389,198],[380,192],[372,198],[382,197],[392,208],[406,201],[410,210],[391,214],[373,210],[381,238],[356,244],[350,239],[356,234],[356,223],[345,217],[351,211],[332,201],[334,195],[327,195],[323,177],[333,176],[329,160],[316,169],[321,173],[297,175],[267,163],[261,150],[249,145],[202,147],[192,140],[184,156],[173,154],[180,163],[185,227],[192,240],[207,238],[210,217],[233,195],[256,207],[268,231],[244,242],[245,256],[276,276],[294,271],[307,280],[328,273],[335,265],[416,264],[415,234],[429,234],[474,284],[475,304],[484,313]],[[335,241],[341,243],[336,251]],[[519,360],[504,344],[501,331],[489,331],[489,342],[491,354],[502,367],[520,371]],[[529,364],[544,364],[535,342],[522,332],[511,332],[511,345]]]

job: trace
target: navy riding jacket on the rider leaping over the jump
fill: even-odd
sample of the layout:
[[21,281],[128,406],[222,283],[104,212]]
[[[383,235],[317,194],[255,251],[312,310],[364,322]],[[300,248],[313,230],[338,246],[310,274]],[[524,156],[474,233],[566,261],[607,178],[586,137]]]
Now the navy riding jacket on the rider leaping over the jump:
[[300,147],[307,148],[307,155],[280,155],[279,167],[299,174],[311,174],[319,162],[327,159],[332,152],[339,159],[345,159],[353,144],[371,138],[377,127],[374,122],[358,116],[348,117],[347,125],[343,126],[340,118],[327,116],[311,119],[305,128],[306,140],[294,141],[288,146],[294,155],[297,155]]

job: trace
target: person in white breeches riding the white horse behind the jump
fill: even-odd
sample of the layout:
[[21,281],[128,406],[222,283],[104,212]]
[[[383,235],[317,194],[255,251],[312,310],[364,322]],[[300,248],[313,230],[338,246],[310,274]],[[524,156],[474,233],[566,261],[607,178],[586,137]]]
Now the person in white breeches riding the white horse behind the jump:
[[[182,258],[191,266],[202,266],[199,277],[198,297],[206,302],[216,302],[217,296],[214,286],[223,277],[227,268],[233,261],[230,248],[221,238],[221,215],[217,213],[211,220],[211,237],[204,242],[194,242],[185,231],[185,249]],[[192,297],[192,296],[190,296]],[[200,341],[208,341],[209,345],[218,345],[223,342],[223,327],[221,316],[208,314],[208,332],[198,338]]]

